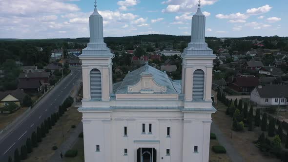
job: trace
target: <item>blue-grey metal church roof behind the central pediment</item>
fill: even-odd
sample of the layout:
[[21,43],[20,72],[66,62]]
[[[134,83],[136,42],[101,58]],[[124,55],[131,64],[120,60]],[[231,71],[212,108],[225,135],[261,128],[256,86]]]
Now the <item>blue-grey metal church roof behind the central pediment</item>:
[[181,93],[181,85],[177,82],[172,81],[167,74],[164,72],[148,65],[144,65],[139,69],[136,69],[126,75],[124,80],[120,83],[115,83],[113,88],[116,94],[127,94],[128,86],[135,85],[141,80],[141,74],[149,73],[153,75],[153,80],[161,86],[166,86],[168,94],[180,94]]

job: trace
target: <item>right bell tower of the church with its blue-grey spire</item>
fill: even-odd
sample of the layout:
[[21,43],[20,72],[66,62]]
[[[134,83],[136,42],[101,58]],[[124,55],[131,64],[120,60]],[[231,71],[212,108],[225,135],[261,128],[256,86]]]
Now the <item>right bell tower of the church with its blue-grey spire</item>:
[[[215,55],[205,42],[206,17],[201,12],[201,1],[198,2],[197,12],[192,17],[191,42],[181,55],[183,58],[182,93],[185,94],[185,101],[207,101],[208,103],[211,102],[211,78]],[[193,107],[192,104],[186,105]]]

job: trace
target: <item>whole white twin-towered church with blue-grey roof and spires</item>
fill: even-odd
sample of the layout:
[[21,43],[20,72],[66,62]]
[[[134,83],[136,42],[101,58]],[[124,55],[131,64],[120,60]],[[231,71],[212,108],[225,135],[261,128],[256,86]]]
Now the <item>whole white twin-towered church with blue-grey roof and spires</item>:
[[208,162],[215,55],[205,42],[200,4],[191,42],[181,54],[182,81],[148,64],[112,82],[114,55],[103,42],[103,18],[90,16],[82,50],[85,162]]

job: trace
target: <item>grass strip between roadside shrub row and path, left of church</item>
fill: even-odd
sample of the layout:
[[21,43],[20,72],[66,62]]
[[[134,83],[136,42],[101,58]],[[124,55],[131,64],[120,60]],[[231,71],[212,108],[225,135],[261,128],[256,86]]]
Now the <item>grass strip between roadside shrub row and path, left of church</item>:
[[[60,120],[49,130],[46,137],[42,138],[42,142],[38,143],[37,148],[33,148],[33,152],[28,155],[28,159],[21,162],[47,162],[55,151],[53,146],[60,147],[62,142],[67,140],[72,131],[71,125],[78,125],[81,122],[82,114],[78,112],[77,107],[70,108],[60,118]],[[64,137],[62,135],[64,132]],[[64,155],[64,153],[63,153]]]

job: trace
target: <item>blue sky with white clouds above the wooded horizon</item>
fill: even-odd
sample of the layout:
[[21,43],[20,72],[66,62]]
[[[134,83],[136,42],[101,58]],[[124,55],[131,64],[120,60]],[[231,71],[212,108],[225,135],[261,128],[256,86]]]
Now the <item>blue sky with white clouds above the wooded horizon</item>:
[[[190,35],[198,0],[97,0],[104,37]],[[288,36],[288,0],[201,0],[207,37]],[[89,37],[94,0],[0,0],[0,38]]]

